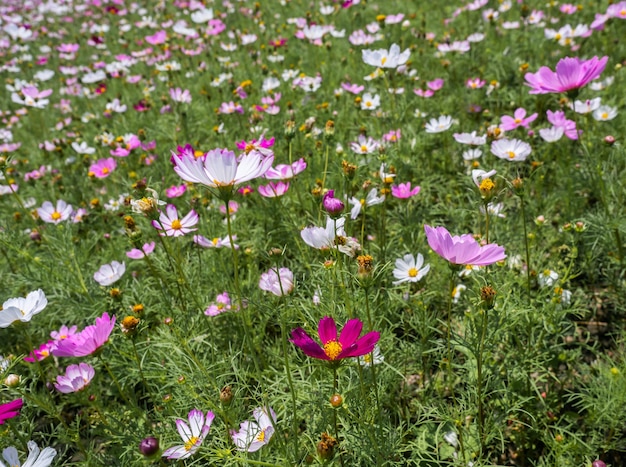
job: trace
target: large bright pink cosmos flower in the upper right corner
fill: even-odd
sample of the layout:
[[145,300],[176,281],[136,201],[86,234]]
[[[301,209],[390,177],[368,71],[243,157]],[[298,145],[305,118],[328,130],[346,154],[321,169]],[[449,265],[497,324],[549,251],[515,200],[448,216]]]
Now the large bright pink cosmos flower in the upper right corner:
[[542,66],[537,73],[526,73],[524,78],[526,84],[532,88],[530,94],[568,92],[582,88],[598,78],[604,71],[608,59],[609,57],[593,57],[581,60],[576,57],[565,57],[556,64],[555,71]]

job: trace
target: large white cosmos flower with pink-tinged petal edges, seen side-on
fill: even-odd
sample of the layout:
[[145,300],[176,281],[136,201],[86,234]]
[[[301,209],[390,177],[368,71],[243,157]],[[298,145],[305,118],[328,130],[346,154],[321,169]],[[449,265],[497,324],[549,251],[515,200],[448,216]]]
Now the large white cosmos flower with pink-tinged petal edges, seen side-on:
[[240,158],[228,149],[213,149],[198,157],[172,152],[174,171],[187,182],[200,183],[211,188],[228,189],[240,183],[261,177],[274,162],[274,155],[264,157],[251,151]]

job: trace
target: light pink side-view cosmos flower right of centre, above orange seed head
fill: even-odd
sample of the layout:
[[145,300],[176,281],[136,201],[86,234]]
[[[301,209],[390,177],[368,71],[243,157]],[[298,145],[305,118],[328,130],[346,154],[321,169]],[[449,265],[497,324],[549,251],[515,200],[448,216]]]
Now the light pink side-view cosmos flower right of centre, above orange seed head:
[[452,264],[488,266],[506,258],[504,247],[490,243],[480,246],[471,234],[450,235],[445,227],[424,226],[430,247]]

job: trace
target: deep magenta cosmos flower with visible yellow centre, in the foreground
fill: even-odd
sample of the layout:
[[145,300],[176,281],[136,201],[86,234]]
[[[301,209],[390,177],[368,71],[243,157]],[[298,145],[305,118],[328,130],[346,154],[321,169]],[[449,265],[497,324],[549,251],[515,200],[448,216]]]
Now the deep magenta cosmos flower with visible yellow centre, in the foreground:
[[322,345],[315,342],[302,328],[291,331],[291,342],[309,357],[320,360],[336,361],[349,357],[361,357],[374,350],[380,339],[378,331],[371,331],[359,337],[363,323],[359,319],[350,319],[337,338],[337,325],[330,316],[323,317],[317,327]]

